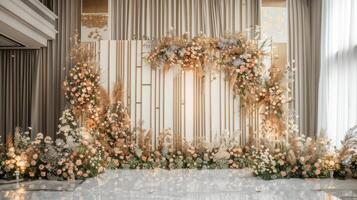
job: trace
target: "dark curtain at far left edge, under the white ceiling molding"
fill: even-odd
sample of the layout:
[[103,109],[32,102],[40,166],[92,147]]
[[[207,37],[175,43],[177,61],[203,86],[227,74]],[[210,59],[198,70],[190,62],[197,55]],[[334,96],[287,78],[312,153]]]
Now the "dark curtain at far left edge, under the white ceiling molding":
[[0,50],[0,132],[2,142],[15,127],[31,124],[36,50]]

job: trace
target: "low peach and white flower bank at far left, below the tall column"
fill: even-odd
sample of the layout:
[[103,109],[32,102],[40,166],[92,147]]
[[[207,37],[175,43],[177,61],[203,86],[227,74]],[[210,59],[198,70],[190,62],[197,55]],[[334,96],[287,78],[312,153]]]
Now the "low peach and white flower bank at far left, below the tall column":
[[31,141],[27,132],[17,131],[18,139],[2,147],[0,153],[0,178],[13,179],[18,173],[29,179],[81,179],[95,176],[104,170],[104,148],[99,143],[67,144],[62,139],[55,142],[48,136],[37,134]]

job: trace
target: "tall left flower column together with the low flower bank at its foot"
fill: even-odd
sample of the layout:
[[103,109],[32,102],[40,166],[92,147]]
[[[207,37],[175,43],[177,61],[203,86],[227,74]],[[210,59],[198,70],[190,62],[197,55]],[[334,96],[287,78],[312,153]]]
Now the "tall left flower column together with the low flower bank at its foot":
[[96,128],[89,125],[98,123],[99,71],[93,53],[79,42],[78,34],[74,39],[70,57],[75,65],[64,82],[68,108],[59,119],[56,141],[41,133],[31,141],[28,131],[16,131],[14,142],[9,139],[2,147],[0,174],[4,178],[20,173],[23,178],[64,180],[104,171],[107,152]]

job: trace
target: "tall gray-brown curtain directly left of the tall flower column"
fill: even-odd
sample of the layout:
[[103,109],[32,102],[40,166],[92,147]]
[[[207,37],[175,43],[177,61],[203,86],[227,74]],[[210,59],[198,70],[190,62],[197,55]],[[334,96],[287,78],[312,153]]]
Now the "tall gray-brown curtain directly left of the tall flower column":
[[80,32],[81,0],[53,0],[49,4],[58,16],[58,33],[55,40],[39,50],[31,120],[34,131],[55,137],[65,106],[62,85],[70,68],[70,38]]

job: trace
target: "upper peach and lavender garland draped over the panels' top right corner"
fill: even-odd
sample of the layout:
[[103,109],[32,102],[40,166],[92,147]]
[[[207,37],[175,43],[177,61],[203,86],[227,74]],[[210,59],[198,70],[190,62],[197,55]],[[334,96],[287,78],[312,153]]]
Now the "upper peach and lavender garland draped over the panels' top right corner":
[[154,68],[180,65],[185,70],[203,71],[204,63],[214,62],[222,66],[226,77],[233,81],[236,94],[247,98],[252,95],[255,99],[257,86],[262,84],[263,47],[242,34],[218,39],[203,35],[193,39],[186,35],[166,37],[155,45],[148,56]]

